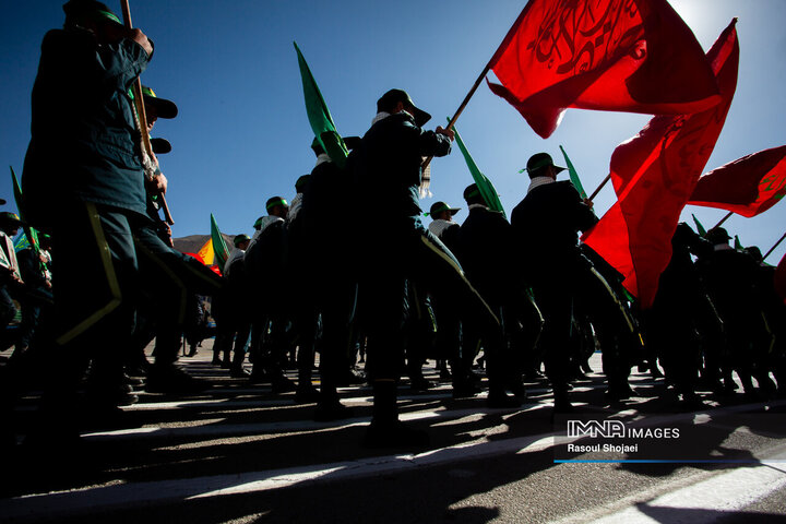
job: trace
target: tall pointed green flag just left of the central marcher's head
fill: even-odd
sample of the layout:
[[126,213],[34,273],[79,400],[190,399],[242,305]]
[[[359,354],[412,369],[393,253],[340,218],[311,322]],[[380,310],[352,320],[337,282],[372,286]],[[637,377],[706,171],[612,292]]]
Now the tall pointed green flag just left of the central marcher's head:
[[322,98],[322,93],[319,91],[317,81],[314,81],[311,70],[300,52],[300,48],[297,47],[297,43],[293,41],[293,44],[298,53],[300,79],[302,80],[303,98],[306,100],[306,112],[309,117],[309,123],[311,123],[311,130],[333,163],[344,168],[347,155],[349,155],[349,150],[335,129],[333,117],[331,117],[327,105],[324,103],[324,98]]

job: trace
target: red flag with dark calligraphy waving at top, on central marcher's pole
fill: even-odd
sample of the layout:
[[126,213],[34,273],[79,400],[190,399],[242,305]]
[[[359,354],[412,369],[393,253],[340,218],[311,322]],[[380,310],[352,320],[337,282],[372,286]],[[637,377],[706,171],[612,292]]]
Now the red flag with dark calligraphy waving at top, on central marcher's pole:
[[531,0],[489,67],[544,139],[569,107],[689,115],[720,100],[693,33],[666,0]]

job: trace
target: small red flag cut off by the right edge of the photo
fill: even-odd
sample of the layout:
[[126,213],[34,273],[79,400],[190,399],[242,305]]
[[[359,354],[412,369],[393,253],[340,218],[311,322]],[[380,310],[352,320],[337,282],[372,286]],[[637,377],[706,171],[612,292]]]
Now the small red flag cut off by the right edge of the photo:
[[689,204],[751,217],[786,195],[786,145],[726,164],[699,179]]

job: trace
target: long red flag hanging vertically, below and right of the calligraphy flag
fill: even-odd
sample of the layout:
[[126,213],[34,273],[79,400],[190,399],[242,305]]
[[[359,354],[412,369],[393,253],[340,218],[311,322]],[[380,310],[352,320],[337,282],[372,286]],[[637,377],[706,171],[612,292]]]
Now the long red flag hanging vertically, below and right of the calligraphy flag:
[[706,165],[737,87],[736,20],[707,60],[723,100],[694,115],[658,116],[611,155],[617,203],[584,242],[626,276],[624,286],[643,308],[652,306],[658,278],[671,258],[671,236]]

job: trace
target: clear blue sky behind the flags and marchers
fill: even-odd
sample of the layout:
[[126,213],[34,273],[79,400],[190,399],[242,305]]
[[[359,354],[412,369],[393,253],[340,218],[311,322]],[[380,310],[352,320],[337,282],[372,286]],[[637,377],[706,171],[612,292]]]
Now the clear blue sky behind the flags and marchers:
[[[21,174],[29,140],[29,96],[40,40],[63,21],[62,1],[7,5],[0,19],[0,163]],[[117,0],[107,3],[118,14]],[[675,0],[671,2],[706,50],[738,16],[740,74],[726,127],[706,170],[743,155],[786,144],[786,1]],[[497,49],[524,1],[131,0],[134,25],[156,45],[142,80],[175,100],[180,116],[159,120],[154,136],[174,151],[160,158],[176,237],[207,234],[210,213],[227,234],[252,231],[264,202],[291,199],[295,180],[313,167],[312,140],[302,102],[293,40],[297,40],[344,135],[361,135],[376,100],[391,87],[407,90],[444,124]],[[64,82],[68,79],[63,79]],[[63,100],[67,104],[68,100]],[[563,145],[591,192],[608,172],[615,147],[651,117],[569,110],[557,132],[538,138],[505,102],[481,85],[457,128],[480,169],[496,184],[508,212],[528,180],[517,171],[533,153],[558,158]],[[3,169],[5,169],[3,167]],[[465,207],[472,182],[454,147],[432,166],[434,199]],[[15,210],[10,176],[0,196]],[[614,202],[611,186],[596,199],[602,214]],[[425,200],[428,209],[433,200]],[[347,202],[337,219],[362,219],[367,202]],[[726,212],[689,206],[707,228]],[[371,215],[372,216],[372,215]],[[466,210],[456,215],[462,222]],[[428,219],[426,219],[428,222]],[[786,230],[786,203],[754,218],[726,223],[743,245],[769,249]],[[782,245],[767,259],[776,263]]]

